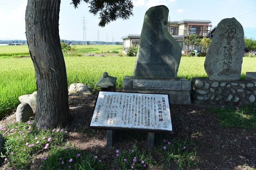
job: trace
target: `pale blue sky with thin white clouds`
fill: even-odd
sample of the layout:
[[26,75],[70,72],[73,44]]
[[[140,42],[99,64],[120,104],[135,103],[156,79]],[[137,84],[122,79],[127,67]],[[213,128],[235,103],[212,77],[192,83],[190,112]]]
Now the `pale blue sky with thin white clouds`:
[[[89,13],[89,4],[84,1],[77,9],[71,0],[61,0],[59,33],[60,39],[83,41],[83,17],[86,40],[122,41],[127,34],[140,34],[145,12],[152,6],[165,5],[169,9],[168,20],[210,20],[212,28],[224,18],[235,17],[245,35],[256,39],[255,0],[133,0],[133,16],[128,20],[117,19],[105,27],[99,27],[99,16]],[[26,39],[25,11],[28,0],[0,0],[0,40]],[[254,27],[254,28],[253,28]]]

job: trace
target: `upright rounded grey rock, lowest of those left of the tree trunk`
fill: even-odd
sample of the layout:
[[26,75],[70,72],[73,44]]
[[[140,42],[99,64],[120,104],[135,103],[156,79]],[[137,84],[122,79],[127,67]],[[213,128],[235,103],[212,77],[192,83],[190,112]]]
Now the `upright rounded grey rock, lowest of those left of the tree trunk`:
[[30,117],[34,116],[34,112],[28,103],[20,103],[16,109],[17,122],[27,122]]

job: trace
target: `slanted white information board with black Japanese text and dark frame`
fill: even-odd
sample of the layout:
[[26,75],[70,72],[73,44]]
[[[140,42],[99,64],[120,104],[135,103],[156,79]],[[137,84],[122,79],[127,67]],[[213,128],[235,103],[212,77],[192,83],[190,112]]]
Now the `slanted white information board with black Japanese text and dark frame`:
[[172,132],[169,97],[100,91],[90,128]]

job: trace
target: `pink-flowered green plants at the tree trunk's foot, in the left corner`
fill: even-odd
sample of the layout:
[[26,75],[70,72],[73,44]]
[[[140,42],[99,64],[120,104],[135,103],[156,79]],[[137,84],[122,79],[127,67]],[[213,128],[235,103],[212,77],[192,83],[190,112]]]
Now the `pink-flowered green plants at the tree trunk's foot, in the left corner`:
[[0,131],[5,138],[4,151],[1,154],[9,166],[17,169],[26,169],[31,163],[31,156],[41,151],[50,151],[55,146],[64,145],[66,132],[64,129],[47,130],[34,128],[27,123],[12,122],[0,126]]

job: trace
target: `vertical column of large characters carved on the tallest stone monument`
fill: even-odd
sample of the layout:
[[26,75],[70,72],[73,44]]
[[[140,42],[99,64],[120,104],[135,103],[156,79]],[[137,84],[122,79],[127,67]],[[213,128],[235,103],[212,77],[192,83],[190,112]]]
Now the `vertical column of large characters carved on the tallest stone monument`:
[[150,54],[150,60],[156,61],[159,59],[159,25],[160,19],[159,19],[159,13],[152,13],[151,17],[151,25],[152,25],[152,44],[151,44],[151,54]]

